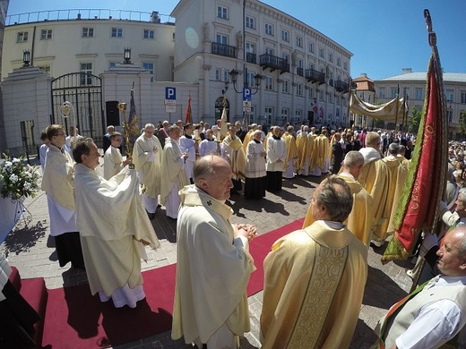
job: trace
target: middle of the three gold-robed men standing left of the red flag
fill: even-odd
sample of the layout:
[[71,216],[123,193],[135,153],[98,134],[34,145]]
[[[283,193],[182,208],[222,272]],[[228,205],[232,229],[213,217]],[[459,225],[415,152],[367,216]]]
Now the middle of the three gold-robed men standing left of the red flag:
[[[367,190],[369,195],[374,200],[374,225],[381,226],[384,223],[384,209],[388,194],[388,170],[387,166],[382,161],[380,155],[380,135],[377,132],[367,132],[366,148],[359,149],[359,152],[364,157],[364,166],[358,177],[358,182]],[[373,241],[376,246],[382,246],[382,243]]]

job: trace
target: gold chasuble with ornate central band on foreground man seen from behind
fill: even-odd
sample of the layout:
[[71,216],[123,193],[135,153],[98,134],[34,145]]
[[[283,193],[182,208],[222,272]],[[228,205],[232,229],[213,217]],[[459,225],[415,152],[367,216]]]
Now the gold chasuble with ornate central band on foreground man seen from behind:
[[350,230],[319,220],[275,242],[263,269],[263,349],[350,345],[367,279],[367,247]]

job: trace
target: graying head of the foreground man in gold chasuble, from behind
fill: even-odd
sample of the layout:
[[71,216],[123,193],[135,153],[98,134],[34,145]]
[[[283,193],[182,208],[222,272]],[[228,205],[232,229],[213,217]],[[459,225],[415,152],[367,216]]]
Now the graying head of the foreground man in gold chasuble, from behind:
[[324,205],[330,220],[343,222],[353,209],[353,195],[344,179],[331,175],[321,183],[320,192],[315,198],[318,205]]

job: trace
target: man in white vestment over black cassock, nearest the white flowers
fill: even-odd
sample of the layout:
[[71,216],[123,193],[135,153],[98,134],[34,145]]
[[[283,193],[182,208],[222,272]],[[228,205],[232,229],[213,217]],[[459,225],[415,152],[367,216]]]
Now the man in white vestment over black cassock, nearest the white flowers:
[[42,177],[47,192],[50,235],[54,237],[60,267],[71,261],[72,267],[84,268],[81,241],[74,210],[73,158],[65,151],[65,130],[59,124],[47,127],[50,145]]

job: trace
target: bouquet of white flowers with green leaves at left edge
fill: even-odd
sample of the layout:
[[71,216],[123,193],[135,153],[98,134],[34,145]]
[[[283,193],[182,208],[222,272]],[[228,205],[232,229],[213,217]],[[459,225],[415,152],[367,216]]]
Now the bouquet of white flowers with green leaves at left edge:
[[0,186],[2,198],[18,200],[34,197],[39,191],[38,167],[25,164],[24,157],[10,157],[3,154],[4,164],[0,165]]

